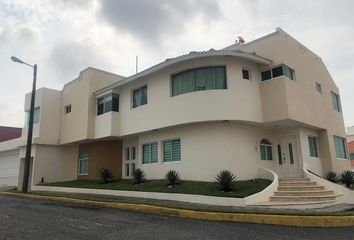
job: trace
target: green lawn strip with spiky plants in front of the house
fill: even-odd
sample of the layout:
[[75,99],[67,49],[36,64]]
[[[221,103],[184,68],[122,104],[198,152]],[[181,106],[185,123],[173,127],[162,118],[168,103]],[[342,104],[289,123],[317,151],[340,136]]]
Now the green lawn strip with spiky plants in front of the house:
[[134,184],[134,180],[116,180],[108,184],[102,184],[92,180],[76,180],[68,182],[49,183],[46,186],[113,189],[144,192],[186,193],[219,197],[243,198],[262,191],[271,181],[255,179],[254,181],[237,181],[235,190],[223,192],[214,182],[183,181],[174,187],[167,187],[164,180],[148,180],[141,184]]

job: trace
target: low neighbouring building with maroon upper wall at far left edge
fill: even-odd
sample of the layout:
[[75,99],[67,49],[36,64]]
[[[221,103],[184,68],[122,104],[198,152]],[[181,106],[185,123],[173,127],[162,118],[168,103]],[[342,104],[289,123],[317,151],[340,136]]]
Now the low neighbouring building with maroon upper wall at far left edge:
[[0,126],[0,187],[17,186],[21,128]]

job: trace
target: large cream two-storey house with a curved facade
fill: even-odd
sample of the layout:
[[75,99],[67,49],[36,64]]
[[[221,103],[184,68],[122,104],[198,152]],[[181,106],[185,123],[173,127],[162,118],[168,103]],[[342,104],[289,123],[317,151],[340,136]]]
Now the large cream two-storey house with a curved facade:
[[88,68],[61,91],[39,89],[35,106],[33,184],[96,179],[102,167],[202,181],[223,169],[239,180],[260,167],[280,177],[350,169],[339,90],[321,58],[281,29],[127,78]]

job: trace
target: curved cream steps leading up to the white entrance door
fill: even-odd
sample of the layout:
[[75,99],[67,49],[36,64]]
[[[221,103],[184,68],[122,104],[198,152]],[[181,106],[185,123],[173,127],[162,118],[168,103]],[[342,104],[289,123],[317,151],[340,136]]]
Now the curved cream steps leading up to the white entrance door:
[[331,203],[336,201],[336,197],[333,190],[325,189],[309,178],[281,178],[278,190],[269,199],[269,205]]

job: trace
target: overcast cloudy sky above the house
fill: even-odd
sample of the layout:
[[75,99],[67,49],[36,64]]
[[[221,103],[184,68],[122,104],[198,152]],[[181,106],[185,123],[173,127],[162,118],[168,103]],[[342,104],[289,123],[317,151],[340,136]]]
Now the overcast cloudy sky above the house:
[[[340,4],[339,4],[340,3]],[[221,49],[281,27],[319,55],[354,125],[352,0],[0,0],[0,126],[22,127],[24,95],[62,89],[89,66],[123,76],[167,58]]]

